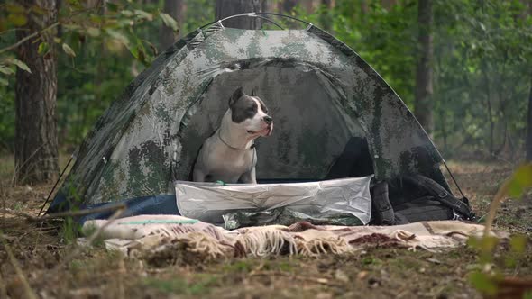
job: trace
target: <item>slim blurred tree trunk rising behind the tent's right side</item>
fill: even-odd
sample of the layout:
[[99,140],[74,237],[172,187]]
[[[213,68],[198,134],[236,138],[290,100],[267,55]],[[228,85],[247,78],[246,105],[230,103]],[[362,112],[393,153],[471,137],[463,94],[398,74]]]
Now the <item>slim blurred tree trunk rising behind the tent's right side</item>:
[[419,0],[417,23],[419,26],[419,55],[416,72],[415,113],[417,121],[430,134],[434,129],[432,103],[432,0]]

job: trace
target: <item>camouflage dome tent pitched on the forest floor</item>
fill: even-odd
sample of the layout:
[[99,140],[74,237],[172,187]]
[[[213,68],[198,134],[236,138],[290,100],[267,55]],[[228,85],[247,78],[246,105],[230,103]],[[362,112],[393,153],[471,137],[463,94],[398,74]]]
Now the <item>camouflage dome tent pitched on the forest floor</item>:
[[[269,15],[244,14],[273,23]],[[255,89],[275,122],[257,140],[260,182],[413,173],[448,189],[426,132],[344,43],[310,23],[242,30],[224,21],[189,33],[134,79],[80,145],[49,213],[117,202],[128,214],[178,213],[172,182],[188,179],[237,86]]]

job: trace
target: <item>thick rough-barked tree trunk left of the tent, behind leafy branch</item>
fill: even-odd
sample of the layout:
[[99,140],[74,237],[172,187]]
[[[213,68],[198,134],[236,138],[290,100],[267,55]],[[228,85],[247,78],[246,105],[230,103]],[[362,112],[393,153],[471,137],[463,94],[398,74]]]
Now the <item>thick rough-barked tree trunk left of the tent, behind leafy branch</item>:
[[[32,14],[25,28],[17,31],[20,41],[32,32],[57,21],[56,0],[23,0],[25,7],[40,6],[45,14]],[[32,74],[21,69],[16,72],[15,84],[15,144],[14,163],[17,183],[52,182],[58,177],[58,139],[56,122],[56,53],[52,33],[41,35],[50,45],[50,54],[37,53],[39,42],[24,42],[18,48],[18,59],[25,62]]]

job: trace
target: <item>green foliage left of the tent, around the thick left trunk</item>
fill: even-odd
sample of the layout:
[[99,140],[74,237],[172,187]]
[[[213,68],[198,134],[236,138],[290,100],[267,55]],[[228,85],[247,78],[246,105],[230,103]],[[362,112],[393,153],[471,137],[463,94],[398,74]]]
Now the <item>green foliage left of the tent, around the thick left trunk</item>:
[[[14,1],[0,7],[6,8],[0,12],[0,150],[13,151],[15,68],[32,70],[15,59],[15,51],[7,47],[16,42],[16,31],[27,30],[24,20],[47,12]],[[105,7],[90,7],[84,1],[63,1],[59,26],[53,31],[36,32],[32,42],[39,44],[39,54],[58,57],[60,144],[77,145],[117,98],[116,91],[124,90],[133,77],[151,64],[159,52],[162,26],[178,30],[176,20],[161,14],[161,8],[162,2],[139,4],[121,0],[106,2]],[[53,34],[53,39],[43,38],[48,33]],[[53,47],[50,41],[59,47]],[[55,49],[60,51],[52,52]]]

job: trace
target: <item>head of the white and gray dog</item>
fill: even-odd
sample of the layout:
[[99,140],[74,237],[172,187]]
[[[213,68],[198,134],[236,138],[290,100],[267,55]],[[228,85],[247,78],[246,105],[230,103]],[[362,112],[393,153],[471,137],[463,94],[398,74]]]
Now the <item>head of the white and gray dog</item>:
[[243,87],[238,87],[229,99],[231,120],[241,126],[250,137],[270,136],[273,131],[273,119],[268,115],[268,108],[261,98],[255,95],[245,95]]

